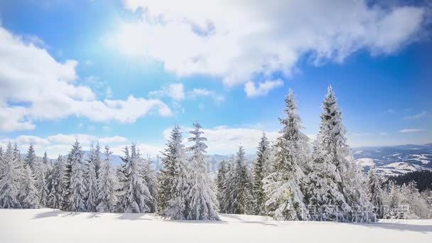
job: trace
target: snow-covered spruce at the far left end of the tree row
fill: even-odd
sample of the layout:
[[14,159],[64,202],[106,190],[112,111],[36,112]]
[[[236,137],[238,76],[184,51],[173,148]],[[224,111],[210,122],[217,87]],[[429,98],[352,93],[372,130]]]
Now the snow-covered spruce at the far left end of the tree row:
[[19,208],[21,207],[18,198],[21,171],[13,159],[11,142],[9,142],[3,157],[3,175],[0,180],[0,208]]

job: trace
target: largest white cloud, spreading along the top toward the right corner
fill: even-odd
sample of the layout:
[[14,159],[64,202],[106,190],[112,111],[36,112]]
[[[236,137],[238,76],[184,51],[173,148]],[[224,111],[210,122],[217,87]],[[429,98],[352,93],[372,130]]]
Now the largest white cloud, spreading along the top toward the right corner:
[[[109,38],[128,55],[163,62],[176,75],[205,74],[225,85],[288,77],[307,54],[342,62],[358,50],[388,54],[416,40],[426,6],[382,7],[369,1],[125,0],[141,21],[120,23]],[[256,84],[255,84],[256,85]]]

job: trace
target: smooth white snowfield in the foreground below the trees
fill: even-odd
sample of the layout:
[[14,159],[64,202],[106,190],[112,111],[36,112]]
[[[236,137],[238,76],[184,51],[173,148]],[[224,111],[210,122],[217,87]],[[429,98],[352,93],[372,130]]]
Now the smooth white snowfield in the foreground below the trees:
[[376,224],[275,222],[221,215],[222,221],[166,221],[151,214],[0,210],[0,242],[432,242],[432,220]]

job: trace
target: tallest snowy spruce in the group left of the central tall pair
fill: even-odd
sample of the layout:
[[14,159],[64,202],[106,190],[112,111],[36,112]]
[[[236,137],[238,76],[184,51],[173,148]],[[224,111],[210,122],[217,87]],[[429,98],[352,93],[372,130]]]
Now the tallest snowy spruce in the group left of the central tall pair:
[[[83,153],[80,143],[75,140],[72,150],[68,156],[68,163],[70,164],[70,178],[68,193],[66,194],[65,201],[67,203],[67,210],[72,212],[85,212],[85,198],[87,197],[87,182],[85,181],[85,163],[83,160]],[[68,168],[66,169],[68,171]]]

